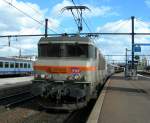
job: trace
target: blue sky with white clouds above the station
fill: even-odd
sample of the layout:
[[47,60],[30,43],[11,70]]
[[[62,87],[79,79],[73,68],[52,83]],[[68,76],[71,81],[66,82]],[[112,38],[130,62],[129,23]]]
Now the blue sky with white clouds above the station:
[[[131,32],[131,16],[135,16],[135,32],[150,32],[150,0],[74,0],[87,6],[83,13],[86,24],[82,32]],[[45,18],[49,19],[49,34],[76,33],[71,13],[63,11],[73,5],[72,0],[0,0],[0,35],[43,34]],[[0,38],[0,56],[37,55],[40,37]],[[8,46],[8,41],[11,45]],[[124,55],[131,49],[130,36],[94,38],[104,55]],[[135,36],[135,43],[150,43],[149,36]],[[150,47],[142,47],[138,54],[150,55]],[[130,54],[131,52],[129,52]],[[120,57],[111,59],[124,60]]]

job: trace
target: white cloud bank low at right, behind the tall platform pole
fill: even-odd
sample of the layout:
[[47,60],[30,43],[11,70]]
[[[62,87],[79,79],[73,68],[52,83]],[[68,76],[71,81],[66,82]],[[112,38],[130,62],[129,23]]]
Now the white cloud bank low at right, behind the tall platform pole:
[[[106,23],[103,26],[97,28],[98,32],[131,32],[130,20],[118,20],[114,22]],[[150,23],[135,20],[135,32],[136,33],[150,33]],[[149,36],[135,36],[135,43],[150,43]],[[101,35],[96,45],[101,49],[105,55],[125,55],[125,48],[131,49],[131,36],[123,35]],[[142,52],[139,54],[148,54],[149,47],[142,47]],[[135,53],[136,54],[136,53]],[[112,57],[113,58],[113,57]],[[125,60],[125,57],[114,57],[114,59]]]

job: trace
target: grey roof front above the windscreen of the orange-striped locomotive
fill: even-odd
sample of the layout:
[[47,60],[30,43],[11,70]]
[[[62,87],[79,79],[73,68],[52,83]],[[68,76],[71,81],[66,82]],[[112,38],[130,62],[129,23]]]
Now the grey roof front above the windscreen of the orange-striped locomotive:
[[80,37],[80,36],[57,36],[57,37],[42,37],[39,43],[48,43],[48,42],[84,42],[89,43],[91,40],[88,37]]

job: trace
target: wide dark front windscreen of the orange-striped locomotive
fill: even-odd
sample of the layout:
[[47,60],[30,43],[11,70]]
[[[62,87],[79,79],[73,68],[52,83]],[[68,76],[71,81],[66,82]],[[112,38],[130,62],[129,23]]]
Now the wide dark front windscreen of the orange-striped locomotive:
[[89,44],[39,44],[39,57],[95,58],[95,47]]

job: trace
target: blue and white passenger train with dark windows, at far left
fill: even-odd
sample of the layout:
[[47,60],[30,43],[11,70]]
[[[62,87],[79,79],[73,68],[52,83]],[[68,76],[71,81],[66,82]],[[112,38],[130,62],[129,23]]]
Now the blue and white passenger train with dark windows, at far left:
[[0,57],[0,76],[31,75],[33,64],[30,60]]

